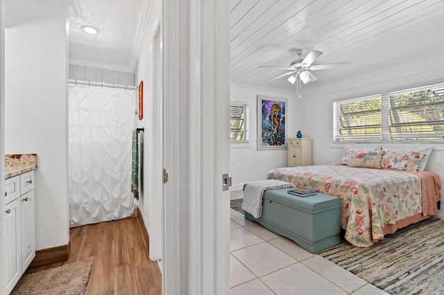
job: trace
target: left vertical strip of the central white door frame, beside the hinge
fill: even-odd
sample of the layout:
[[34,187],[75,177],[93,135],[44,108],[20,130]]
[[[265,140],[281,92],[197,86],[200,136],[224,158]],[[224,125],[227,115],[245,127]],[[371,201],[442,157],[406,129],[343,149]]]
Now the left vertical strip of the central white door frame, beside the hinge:
[[165,120],[165,168],[169,181],[164,195],[164,253],[162,293],[180,294],[180,100],[179,100],[179,0],[162,3],[162,33],[164,71],[164,105],[168,111]]

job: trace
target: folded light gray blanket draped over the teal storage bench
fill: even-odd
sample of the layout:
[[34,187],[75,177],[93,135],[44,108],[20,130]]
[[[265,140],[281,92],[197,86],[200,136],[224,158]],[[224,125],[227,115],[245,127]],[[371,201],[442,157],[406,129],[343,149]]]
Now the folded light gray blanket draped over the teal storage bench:
[[248,182],[244,186],[244,201],[242,210],[247,211],[253,217],[262,217],[262,197],[266,190],[275,188],[294,188],[294,184],[278,179],[267,179]]

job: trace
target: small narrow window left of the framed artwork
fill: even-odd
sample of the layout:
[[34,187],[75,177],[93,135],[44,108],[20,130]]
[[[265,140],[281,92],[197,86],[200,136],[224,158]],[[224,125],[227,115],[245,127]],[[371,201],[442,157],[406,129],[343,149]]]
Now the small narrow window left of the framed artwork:
[[230,140],[232,143],[248,143],[248,105],[230,105]]

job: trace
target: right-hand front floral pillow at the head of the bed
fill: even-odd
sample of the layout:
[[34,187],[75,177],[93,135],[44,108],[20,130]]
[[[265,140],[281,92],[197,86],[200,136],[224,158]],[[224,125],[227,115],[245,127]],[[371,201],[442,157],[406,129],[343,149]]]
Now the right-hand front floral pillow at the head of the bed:
[[424,157],[424,154],[415,150],[386,150],[384,157],[382,157],[381,167],[385,169],[418,171],[422,157]]

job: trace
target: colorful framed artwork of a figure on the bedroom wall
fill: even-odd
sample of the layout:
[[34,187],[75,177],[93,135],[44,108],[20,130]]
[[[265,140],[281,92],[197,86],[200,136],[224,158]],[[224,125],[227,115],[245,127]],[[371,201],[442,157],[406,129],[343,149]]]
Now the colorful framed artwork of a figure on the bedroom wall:
[[257,150],[286,149],[287,99],[257,96]]

